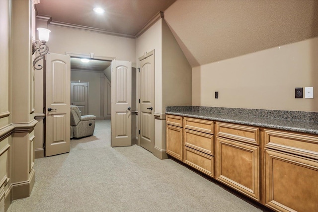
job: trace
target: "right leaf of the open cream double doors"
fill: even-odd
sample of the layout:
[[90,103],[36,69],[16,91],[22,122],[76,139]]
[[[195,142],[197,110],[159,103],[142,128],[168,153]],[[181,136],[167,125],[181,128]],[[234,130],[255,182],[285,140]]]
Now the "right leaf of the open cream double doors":
[[130,146],[132,134],[130,61],[112,61],[111,146]]

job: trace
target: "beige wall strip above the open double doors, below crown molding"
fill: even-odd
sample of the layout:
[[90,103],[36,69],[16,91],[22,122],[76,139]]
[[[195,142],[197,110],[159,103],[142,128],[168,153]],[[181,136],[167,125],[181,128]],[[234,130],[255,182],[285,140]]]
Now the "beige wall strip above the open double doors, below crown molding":
[[52,53],[89,54],[93,52],[95,56],[115,57],[117,60],[135,63],[136,42],[133,38],[52,25],[49,25],[48,29],[51,30],[48,46]]

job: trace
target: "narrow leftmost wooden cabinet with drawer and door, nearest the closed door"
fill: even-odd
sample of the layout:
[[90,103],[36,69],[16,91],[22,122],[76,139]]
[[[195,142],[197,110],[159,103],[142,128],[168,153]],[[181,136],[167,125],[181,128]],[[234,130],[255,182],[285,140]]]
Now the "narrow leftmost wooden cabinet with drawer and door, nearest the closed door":
[[166,152],[182,161],[183,138],[181,116],[166,115]]

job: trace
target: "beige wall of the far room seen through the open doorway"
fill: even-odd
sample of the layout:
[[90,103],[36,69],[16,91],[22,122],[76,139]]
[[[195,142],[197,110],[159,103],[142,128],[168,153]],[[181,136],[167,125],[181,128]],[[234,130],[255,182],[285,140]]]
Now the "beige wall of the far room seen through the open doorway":
[[103,72],[71,70],[71,81],[88,82],[88,114],[96,116],[96,119],[104,119],[104,115],[100,113],[100,78],[104,81]]

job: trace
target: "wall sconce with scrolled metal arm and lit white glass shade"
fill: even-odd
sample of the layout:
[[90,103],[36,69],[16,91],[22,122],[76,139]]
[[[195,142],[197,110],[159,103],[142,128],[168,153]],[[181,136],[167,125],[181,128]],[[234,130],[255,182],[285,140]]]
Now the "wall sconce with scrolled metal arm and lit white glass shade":
[[49,34],[51,31],[45,28],[37,28],[37,30],[39,31],[40,41],[33,41],[32,55],[35,52],[38,52],[40,55],[33,60],[33,68],[36,70],[41,70],[43,67],[41,65],[38,65],[39,68],[36,68],[35,64],[38,61],[42,60],[44,56],[49,52],[49,47],[46,45],[46,42],[48,42],[49,40]]

